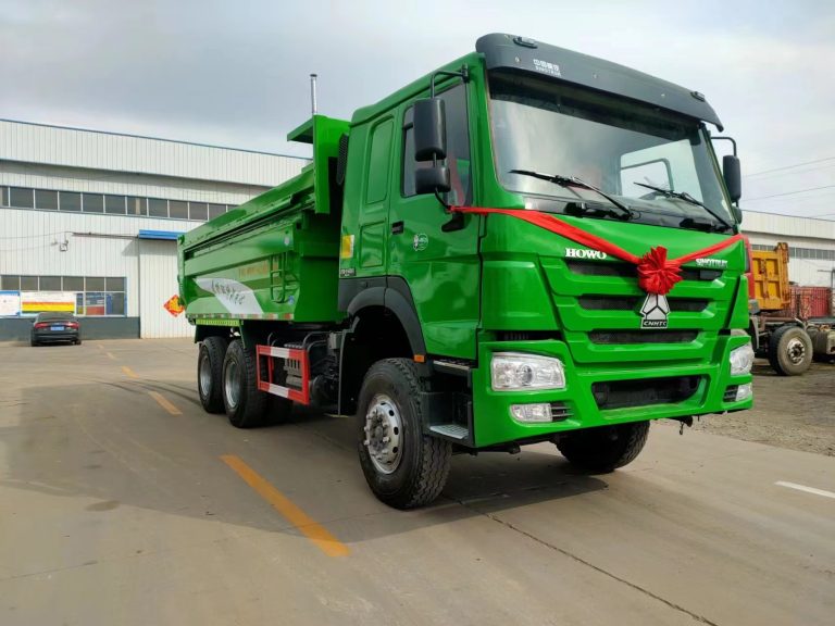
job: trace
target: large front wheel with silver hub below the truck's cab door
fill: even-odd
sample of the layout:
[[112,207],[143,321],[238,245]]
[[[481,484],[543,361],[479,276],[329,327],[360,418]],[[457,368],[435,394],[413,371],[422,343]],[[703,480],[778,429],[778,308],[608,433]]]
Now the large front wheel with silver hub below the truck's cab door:
[[[386,359],[372,365],[360,391],[360,465],[377,499],[395,509],[434,501],[449,475],[452,445],[423,434],[422,390],[412,361]],[[388,442],[383,441],[386,433]]]

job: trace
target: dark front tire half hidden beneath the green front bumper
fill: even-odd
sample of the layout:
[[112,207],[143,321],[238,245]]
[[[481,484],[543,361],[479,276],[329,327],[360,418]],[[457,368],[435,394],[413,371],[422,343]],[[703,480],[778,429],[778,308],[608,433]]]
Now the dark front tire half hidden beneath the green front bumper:
[[574,430],[557,442],[569,463],[597,474],[608,474],[632,463],[647,442],[649,422]]

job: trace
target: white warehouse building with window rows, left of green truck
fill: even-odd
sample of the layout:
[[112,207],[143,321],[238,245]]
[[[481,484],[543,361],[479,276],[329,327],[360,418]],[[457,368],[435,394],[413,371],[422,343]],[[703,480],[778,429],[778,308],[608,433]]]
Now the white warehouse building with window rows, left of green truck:
[[0,341],[47,310],[82,317],[85,338],[189,336],[165,308],[176,237],[308,162],[0,120]]

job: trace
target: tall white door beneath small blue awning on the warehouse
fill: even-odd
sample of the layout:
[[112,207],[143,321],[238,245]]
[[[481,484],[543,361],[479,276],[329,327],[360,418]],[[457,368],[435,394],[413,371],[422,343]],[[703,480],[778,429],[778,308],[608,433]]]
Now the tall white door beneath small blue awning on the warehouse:
[[177,288],[177,242],[139,240],[139,336],[144,339],[190,337],[185,314],[174,316],[163,306]]

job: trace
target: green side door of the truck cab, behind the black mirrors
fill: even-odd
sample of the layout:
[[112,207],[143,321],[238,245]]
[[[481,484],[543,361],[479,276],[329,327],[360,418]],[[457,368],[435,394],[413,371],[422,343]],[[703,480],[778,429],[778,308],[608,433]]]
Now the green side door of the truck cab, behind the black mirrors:
[[[447,159],[451,190],[449,204],[471,204],[470,115],[466,85],[439,93],[447,116]],[[475,359],[481,314],[479,217],[468,215],[463,227],[444,230],[451,215],[434,195],[414,192],[415,162],[412,103],[398,110],[396,175],[389,204],[388,289],[408,289],[421,321],[426,350],[460,359]]]

